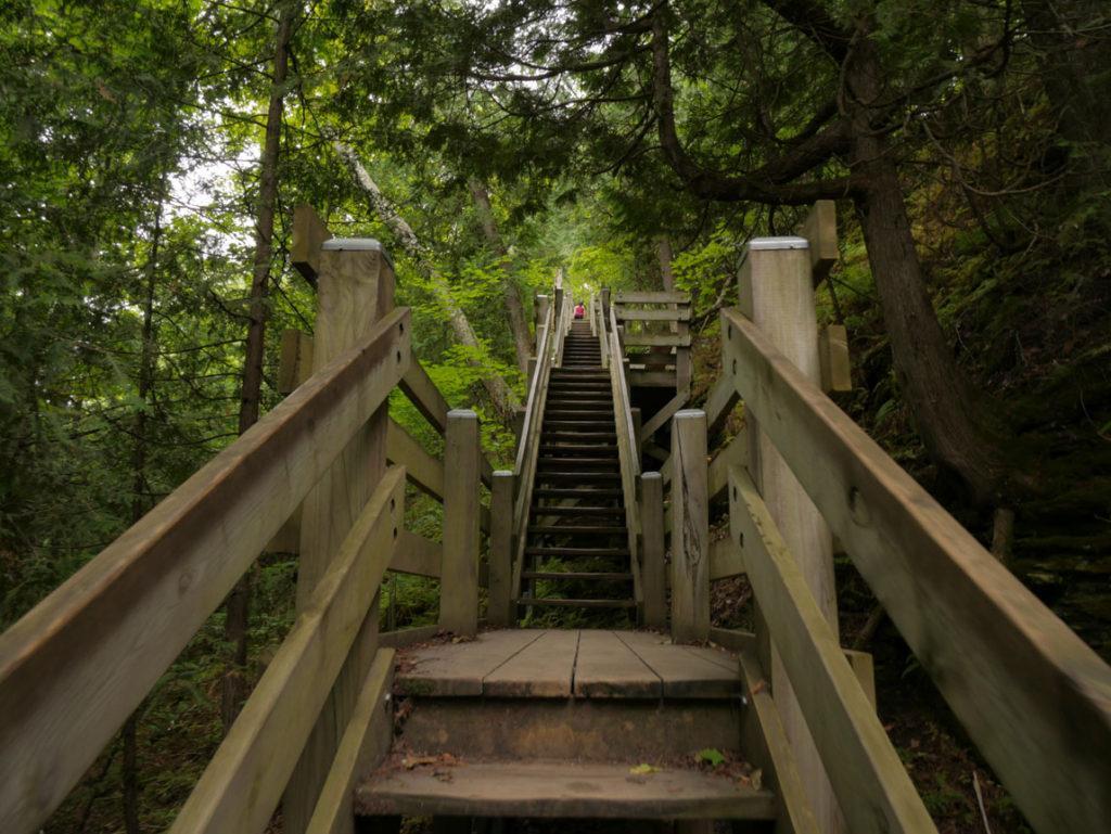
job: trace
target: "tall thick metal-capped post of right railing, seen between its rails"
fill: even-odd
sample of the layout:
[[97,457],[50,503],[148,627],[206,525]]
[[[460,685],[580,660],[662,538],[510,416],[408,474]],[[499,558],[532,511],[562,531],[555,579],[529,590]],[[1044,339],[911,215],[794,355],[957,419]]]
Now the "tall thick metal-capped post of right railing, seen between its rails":
[[[758,238],[749,243],[741,270],[741,309],[775,348],[809,379],[821,384],[818,318],[814,309],[811,252],[802,238]],[[829,527],[771,441],[751,415],[751,472],[760,494],[818,601],[838,633],[833,583],[833,541]],[[775,635],[771,635],[774,644]],[[774,647],[772,645],[772,647]],[[837,797],[814,747],[791,682],[778,653],[771,652],[772,695],[783,720],[819,827],[844,831]]]

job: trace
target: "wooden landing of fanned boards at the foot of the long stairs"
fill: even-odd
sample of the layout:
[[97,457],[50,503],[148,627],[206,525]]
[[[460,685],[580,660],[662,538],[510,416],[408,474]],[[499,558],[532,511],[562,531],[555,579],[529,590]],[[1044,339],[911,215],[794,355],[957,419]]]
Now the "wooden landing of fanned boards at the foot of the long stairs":
[[402,695],[724,699],[741,692],[735,655],[633,631],[507,630],[398,655]]

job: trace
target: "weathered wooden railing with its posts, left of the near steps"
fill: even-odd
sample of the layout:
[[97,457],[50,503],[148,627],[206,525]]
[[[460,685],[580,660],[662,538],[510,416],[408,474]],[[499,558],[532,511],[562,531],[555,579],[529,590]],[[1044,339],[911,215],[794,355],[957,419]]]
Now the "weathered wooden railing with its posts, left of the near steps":
[[[39,830],[299,508],[297,621],[172,831],[262,832],[279,801],[288,833],[351,831],[357,765],[390,737],[386,571],[439,573],[441,623],[473,631],[477,420],[448,412],[412,356],[381,247],[329,239],[298,210],[293,260],[320,305],[314,372],[0,635],[0,830]],[[398,385],[444,430],[447,465],[402,442],[391,455],[407,465],[388,466]],[[431,544],[406,545],[409,464],[444,502],[438,567]]]

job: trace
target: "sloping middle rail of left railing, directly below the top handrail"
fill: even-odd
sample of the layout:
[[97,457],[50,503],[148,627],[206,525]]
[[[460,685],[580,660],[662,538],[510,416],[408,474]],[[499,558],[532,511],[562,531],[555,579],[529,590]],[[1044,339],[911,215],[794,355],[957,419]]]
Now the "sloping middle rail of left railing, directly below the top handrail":
[[328,701],[404,521],[404,472],[380,481],[170,831],[262,832]]

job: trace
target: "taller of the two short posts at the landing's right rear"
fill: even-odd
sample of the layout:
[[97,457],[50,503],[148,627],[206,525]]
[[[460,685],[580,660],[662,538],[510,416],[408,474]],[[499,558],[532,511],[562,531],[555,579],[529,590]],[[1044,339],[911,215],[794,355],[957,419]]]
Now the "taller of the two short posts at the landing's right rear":
[[671,421],[671,636],[710,636],[710,515],[705,412],[684,410]]

